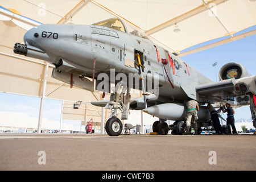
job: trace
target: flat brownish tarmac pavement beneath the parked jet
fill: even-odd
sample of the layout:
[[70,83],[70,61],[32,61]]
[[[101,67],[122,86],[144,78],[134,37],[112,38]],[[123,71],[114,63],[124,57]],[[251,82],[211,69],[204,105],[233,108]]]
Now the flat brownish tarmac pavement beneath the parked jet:
[[0,170],[255,170],[256,135],[0,134]]

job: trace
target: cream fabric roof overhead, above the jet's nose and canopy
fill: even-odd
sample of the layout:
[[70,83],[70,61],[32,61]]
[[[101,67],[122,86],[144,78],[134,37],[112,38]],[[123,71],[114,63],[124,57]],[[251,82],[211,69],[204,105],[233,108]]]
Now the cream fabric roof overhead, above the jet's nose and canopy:
[[256,24],[254,0],[9,0],[1,6],[41,23],[72,17],[75,24],[92,24],[118,16],[176,52],[223,36],[230,42]]

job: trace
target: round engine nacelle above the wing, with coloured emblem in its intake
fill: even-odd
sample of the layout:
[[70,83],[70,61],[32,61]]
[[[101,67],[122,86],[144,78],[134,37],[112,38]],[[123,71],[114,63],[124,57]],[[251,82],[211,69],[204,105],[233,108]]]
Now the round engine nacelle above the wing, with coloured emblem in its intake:
[[227,80],[230,78],[239,79],[247,76],[251,75],[240,63],[227,63],[221,67],[220,72],[218,73],[220,80]]

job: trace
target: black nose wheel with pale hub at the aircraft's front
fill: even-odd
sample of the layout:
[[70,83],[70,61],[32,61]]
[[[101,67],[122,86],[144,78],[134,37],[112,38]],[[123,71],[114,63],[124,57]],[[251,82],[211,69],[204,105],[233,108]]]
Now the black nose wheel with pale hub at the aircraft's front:
[[109,136],[118,136],[122,132],[122,122],[115,117],[109,118],[106,122],[105,129]]

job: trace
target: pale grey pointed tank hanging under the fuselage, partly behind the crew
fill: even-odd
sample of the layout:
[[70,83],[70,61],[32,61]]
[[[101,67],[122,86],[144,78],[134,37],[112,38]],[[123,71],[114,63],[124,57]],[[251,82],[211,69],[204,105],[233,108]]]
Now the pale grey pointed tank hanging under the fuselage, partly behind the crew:
[[[181,103],[166,103],[148,107],[148,114],[162,119],[169,119],[172,121],[185,121],[187,107]],[[198,111],[198,118],[200,120],[210,119],[209,110],[200,106]]]

